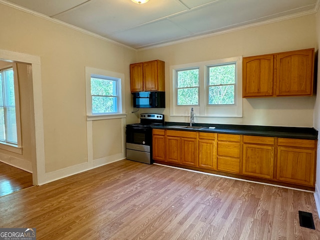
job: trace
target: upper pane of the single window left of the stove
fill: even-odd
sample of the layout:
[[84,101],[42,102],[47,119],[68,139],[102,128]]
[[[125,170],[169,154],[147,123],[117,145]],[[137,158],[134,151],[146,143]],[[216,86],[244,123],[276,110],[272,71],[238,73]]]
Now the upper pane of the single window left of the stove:
[[91,77],[91,95],[116,95],[116,81]]

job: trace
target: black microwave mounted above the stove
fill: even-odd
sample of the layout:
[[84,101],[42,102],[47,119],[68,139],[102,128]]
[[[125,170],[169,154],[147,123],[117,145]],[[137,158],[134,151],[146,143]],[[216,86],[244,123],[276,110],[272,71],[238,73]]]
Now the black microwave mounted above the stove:
[[132,92],[133,107],[137,108],[165,108],[164,91],[140,91]]

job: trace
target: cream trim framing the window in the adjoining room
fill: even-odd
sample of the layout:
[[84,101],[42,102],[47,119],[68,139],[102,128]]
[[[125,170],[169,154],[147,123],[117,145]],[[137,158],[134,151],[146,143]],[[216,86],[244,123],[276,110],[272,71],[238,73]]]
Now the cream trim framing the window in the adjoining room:
[[21,145],[21,117],[20,117],[20,95],[19,95],[19,83],[16,63],[12,62],[9,65],[2,66],[1,69],[13,68],[13,81],[14,81],[14,100],[15,100],[15,119],[16,119],[16,135],[17,144],[11,144],[0,141],[0,149],[22,154]]

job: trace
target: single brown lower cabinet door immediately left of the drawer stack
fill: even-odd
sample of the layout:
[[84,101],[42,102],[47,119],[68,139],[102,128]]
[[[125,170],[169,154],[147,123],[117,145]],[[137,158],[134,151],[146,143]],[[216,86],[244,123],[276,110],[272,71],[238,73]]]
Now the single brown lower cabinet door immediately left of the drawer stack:
[[199,139],[199,167],[216,170],[215,141]]

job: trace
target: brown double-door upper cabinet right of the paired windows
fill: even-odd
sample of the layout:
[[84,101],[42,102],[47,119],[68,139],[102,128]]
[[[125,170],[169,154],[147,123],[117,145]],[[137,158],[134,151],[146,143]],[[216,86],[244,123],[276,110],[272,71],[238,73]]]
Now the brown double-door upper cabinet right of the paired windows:
[[242,96],[311,96],[314,48],[242,59]]

